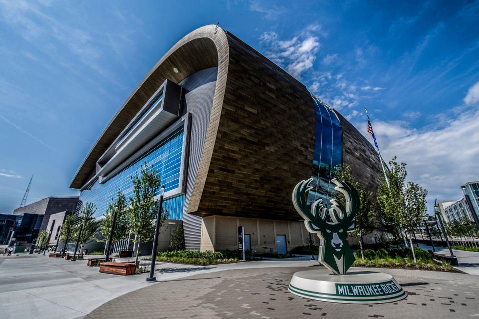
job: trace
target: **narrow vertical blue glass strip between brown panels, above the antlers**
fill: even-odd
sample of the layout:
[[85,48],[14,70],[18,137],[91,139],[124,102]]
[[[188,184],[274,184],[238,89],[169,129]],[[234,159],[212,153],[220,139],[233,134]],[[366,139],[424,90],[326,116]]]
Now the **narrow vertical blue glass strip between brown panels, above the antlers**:
[[342,162],[341,125],[334,111],[327,104],[312,96],[316,131],[314,142],[314,157],[311,177],[313,189],[308,195],[308,204],[319,198],[329,205],[334,185],[331,184],[331,173]]

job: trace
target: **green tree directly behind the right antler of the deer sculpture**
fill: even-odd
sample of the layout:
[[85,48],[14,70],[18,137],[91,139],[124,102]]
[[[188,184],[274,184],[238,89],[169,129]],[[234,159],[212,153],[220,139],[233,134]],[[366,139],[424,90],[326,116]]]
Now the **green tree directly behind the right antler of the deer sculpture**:
[[[364,185],[358,182],[353,175],[351,166],[348,164],[336,166],[333,173],[337,179],[348,182],[358,192],[359,211],[355,218],[356,228],[350,233],[350,235],[359,239],[361,258],[364,259],[363,236],[370,234],[374,229],[379,227],[379,214],[374,203],[375,201],[373,200],[373,194],[366,191]],[[333,197],[343,204],[343,206],[346,206],[344,196],[335,193],[333,194]]]

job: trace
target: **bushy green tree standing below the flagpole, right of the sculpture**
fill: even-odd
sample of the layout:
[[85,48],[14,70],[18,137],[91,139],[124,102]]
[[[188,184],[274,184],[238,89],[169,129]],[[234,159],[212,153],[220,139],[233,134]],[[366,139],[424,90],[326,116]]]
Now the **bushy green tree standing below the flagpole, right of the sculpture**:
[[[426,215],[426,196],[428,191],[414,182],[406,183],[406,163],[397,162],[397,157],[389,162],[390,169],[386,172],[389,180],[383,180],[378,188],[378,204],[384,211],[385,223],[391,225],[395,235],[399,237],[403,230],[411,233],[419,227]],[[411,236],[410,248],[416,263]]]

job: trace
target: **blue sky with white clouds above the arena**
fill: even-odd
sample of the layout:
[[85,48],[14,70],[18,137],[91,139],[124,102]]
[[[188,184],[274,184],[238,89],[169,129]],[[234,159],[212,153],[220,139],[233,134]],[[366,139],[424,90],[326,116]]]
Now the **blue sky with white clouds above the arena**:
[[295,76],[434,200],[479,180],[479,1],[0,0],[0,213],[70,181],[184,35],[220,26]]

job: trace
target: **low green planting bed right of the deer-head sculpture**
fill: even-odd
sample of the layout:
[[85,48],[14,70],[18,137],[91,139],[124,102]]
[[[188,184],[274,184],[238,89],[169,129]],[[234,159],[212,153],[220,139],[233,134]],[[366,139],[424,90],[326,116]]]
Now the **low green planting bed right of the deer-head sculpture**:
[[366,249],[364,251],[364,260],[361,258],[361,252],[356,252],[356,260],[353,263],[353,267],[377,267],[377,268],[402,268],[402,269],[415,269],[415,270],[430,270],[437,272],[450,272],[459,273],[458,270],[451,267],[447,262],[436,262],[430,253],[425,250],[415,247],[414,252],[416,254],[416,264],[413,261],[411,249],[398,249],[392,250],[378,249],[371,250]]

